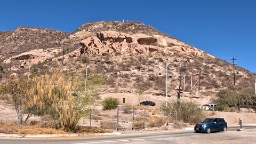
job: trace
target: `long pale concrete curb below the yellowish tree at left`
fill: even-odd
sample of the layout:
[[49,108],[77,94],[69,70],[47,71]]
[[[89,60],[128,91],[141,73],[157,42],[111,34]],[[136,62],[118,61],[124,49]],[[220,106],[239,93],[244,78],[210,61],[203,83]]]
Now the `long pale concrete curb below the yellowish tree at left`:
[[66,134],[8,134],[0,133],[0,137],[14,137],[14,138],[53,138],[53,137],[88,137],[101,135],[119,135],[119,132],[110,133],[66,133]]

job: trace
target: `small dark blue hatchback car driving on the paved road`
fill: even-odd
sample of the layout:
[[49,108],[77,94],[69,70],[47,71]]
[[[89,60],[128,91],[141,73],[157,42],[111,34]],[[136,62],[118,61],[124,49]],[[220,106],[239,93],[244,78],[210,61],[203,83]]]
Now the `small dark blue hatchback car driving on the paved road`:
[[194,130],[196,132],[220,132],[227,131],[228,126],[224,118],[206,118],[203,122],[195,125]]

